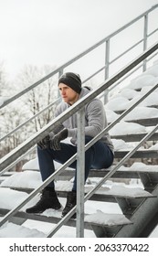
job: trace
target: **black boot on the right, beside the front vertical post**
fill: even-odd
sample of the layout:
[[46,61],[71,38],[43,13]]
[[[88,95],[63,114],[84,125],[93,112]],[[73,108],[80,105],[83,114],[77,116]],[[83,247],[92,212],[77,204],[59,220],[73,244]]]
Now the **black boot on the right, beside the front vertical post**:
[[[74,208],[74,206],[76,206],[76,203],[77,203],[76,191],[68,192],[67,203],[66,203],[65,208],[62,211],[62,217],[66,216],[68,211],[70,211],[71,208]],[[73,219],[76,218],[76,213],[71,218],[73,218]]]

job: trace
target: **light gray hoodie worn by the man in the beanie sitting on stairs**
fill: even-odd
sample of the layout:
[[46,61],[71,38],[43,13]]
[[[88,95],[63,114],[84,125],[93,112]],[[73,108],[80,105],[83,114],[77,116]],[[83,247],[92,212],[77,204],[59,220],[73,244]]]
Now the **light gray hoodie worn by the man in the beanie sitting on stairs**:
[[[82,87],[79,94],[79,99],[84,97],[90,92],[90,88]],[[70,105],[66,102],[61,102],[55,112],[57,117],[60,113],[66,111]],[[102,102],[95,98],[91,100],[87,105],[85,105],[85,135],[95,137],[100,133],[105,127],[107,127],[107,118],[104,106]],[[63,128],[68,129],[68,137],[71,137],[71,143],[77,144],[77,133],[78,133],[78,123],[77,123],[77,113],[70,116],[64,123],[59,125],[54,133],[58,133]],[[109,133],[105,133],[101,139],[101,142],[107,144],[111,151],[113,152],[113,144],[111,142],[111,137]]]

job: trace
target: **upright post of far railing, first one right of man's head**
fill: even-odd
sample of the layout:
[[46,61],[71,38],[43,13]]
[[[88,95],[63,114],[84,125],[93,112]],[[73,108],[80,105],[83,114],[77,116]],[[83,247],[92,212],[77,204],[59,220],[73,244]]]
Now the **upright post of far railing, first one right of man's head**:
[[[105,80],[109,78],[110,70],[110,39],[105,43]],[[104,104],[108,102],[108,90],[104,92]]]

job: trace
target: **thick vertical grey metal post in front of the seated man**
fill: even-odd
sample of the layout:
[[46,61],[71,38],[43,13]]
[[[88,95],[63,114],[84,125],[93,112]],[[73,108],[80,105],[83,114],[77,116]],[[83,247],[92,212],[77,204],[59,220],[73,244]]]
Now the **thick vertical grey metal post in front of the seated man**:
[[85,183],[85,111],[78,112],[78,152],[77,152],[77,232],[84,237],[84,183]]

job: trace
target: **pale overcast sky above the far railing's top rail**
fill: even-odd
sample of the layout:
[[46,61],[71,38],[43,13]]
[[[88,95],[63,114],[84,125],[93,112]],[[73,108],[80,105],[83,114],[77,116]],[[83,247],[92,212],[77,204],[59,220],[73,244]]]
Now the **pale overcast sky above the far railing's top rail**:
[[142,14],[157,0],[0,0],[0,63],[59,65]]

